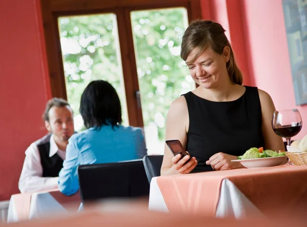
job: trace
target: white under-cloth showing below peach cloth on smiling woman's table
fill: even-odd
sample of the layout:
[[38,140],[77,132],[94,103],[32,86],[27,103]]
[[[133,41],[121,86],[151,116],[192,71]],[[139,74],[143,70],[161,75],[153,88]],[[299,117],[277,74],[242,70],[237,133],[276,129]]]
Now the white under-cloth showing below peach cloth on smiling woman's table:
[[[168,212],[163,199],[157,177],[153,177],[150,183],[149,210]],[[236,219],[249,216],[264,217],[255,205],[228,179],[222,181],[220,199],[216,208],[216,217],[234,217]]]

